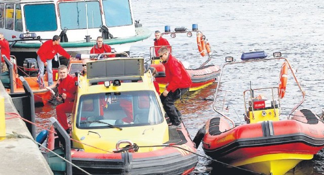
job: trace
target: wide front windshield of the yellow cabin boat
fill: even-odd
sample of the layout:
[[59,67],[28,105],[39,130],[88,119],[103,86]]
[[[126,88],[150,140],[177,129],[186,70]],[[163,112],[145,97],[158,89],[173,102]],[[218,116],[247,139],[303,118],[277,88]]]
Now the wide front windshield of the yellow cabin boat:
[[78,103],[78,128],[113,128],[109,124],[129,127],[163,122],[153,91],[87,94],[81,96]]

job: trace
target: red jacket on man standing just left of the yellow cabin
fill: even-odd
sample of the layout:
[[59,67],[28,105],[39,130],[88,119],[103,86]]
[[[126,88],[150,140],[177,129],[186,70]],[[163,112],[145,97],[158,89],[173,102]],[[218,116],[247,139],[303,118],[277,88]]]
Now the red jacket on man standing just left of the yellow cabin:
[[75,85],[74,78],[68,74],[65,79],[59,79],[59,94],[66,94],[65,101],[73,102],[77,86]]

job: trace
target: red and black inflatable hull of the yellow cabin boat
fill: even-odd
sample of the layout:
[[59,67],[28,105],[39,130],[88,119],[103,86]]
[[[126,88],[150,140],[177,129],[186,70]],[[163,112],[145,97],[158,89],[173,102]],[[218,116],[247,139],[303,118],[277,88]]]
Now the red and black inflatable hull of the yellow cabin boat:
[[[172,132],[170,129],[173,129]],[[198,162],[198,156],[194,154],[197,150],[183,124],[179,130],[169,130],[170,133],[177,132],[181,139],[174,140],[175,143],[170,140],[162,149],[149,152],[91,153],[72,148],[71,160],[91,174],[188,174]],[[50,133],[47,147],[54,150],[58,141],[54,133]],[[75,167],[72,172],[84,174]]]

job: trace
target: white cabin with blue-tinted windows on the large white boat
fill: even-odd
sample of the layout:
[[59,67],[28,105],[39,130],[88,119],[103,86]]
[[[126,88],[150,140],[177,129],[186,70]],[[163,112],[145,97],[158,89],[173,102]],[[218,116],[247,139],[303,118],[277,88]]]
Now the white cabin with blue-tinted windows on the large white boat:
[[[109,31],[108,31],[109,30]],[[61,36],[61,42],[135,36],[129,0],[41,1],[5,0],[0,3],[0,32],[8,40],[34,32],[43,39]],[[110,35],[109,37],[109,34]]]

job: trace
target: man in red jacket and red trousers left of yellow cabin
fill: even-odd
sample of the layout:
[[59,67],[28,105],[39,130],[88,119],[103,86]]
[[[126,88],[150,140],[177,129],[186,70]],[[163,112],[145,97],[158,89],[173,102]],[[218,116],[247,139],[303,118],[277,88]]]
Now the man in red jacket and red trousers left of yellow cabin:
[[72,112],[77,86],[75,85],[73,77],[68,74],[65,65],[59,66],[58,72],[60,79],[58,80],[59,96],[57,97],[57,100],[61,102],[61,104],[56,106],[56,117],[62,127],[69,134],[66,113]]

